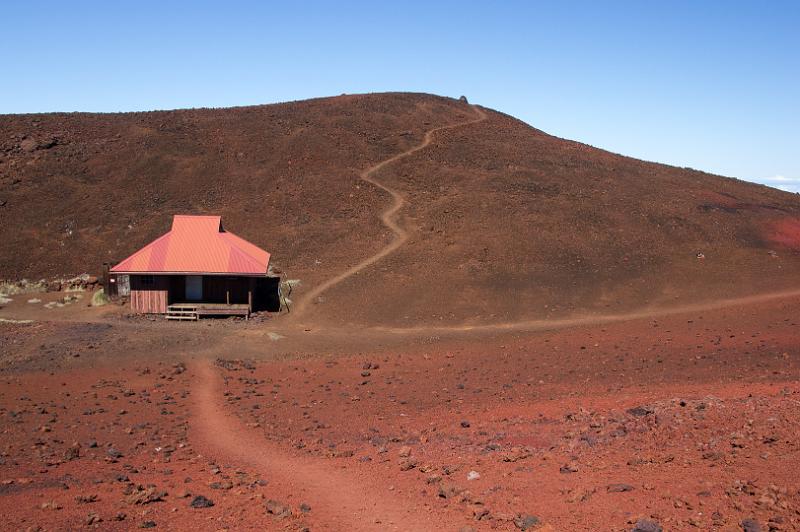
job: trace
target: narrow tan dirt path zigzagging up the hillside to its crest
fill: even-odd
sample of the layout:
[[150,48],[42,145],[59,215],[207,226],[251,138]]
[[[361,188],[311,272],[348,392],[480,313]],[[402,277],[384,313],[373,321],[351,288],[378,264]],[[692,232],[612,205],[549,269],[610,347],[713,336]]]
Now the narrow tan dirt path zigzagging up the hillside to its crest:
[[397,220],[396,220],[397,212],[400,209],[402,209],[403,206],[406,204],[405,198],[403,198],[403,195],[400,194],[400,192],[398,192],[397,190],[394,190],[393,188],[390,188],[390,187],[384,185],[383,183],[381,183],[380,181],[378,181],[377,179],[375,179],[373,177],[373,175],[376,172],[378,172],[379,170],[381,170],[382,168],[384,168],[385,166],[388,166],[388,165],[390,165],[390,164],[392,164],[392,163],[394,163],[394,162],[396,162],[396,161],[398,161],[398,160],[400,160],[400,159],[402,159],[404,157],[408,157],[409,155],[412,155],[412,154],[414,154],[414,153],[416,153],[416,152],[418,152],[418,151],[420,151],[422,149],[425,149],[433,141],[433,136],[436,133],[438,133],[439,131],[445,131],[445,130],[448,130],[448,129],[455,129],[455,128],[459,128],[459,127],[462,127],[462,126],[467,126],[467,125],[470,125],[470,124],[476,124],[478,122],[482,122],[482,121],[486,120],[486,113],[484,113],[483,110],[481,110],[477,106],[472,106],[472,108],[475,110],[475,113],[478,115],[477,118],[474,118],[472,120],[467,120],[466,122],[457,122],[455,124],[448,124],[446,126],[435,127],[435,128],[433,128],[433,129],[431,129],[431,130],[429,130],[429,131],[427,131],[425,133],[425,137],[423,138],[423,140],[422,140],[422,142],[420,144],[414,146],[413,148],[411,148],[409,150],[406,150],[406,151],[404,151],[402,153],[398,153],[397,155],[394,155],[394,156],[392,156],[392,157],[390,157],[388,159],[385,159],[385,160],[379,162],[378,164],[370,166],[366,170],[363,170],[361,173],[359,173],[359,177],[363,181],[366,181],[367,183],[370,183],[371,185],[374,185],[374,186],[380,188],[381,190],[384,190],[385,192],[388,192],[389,195],[392,197],[392,205],[389,206],[388,209],[386,209],[385,211],[383,211],[381,213],[381,221],[383,222],[383,224],[386,227],[388,227],[392,231],[392,233],[394,233],[394,237],[392,238],[392,241],[388,245],[386,245],[384,248],[382,248],[376,254],[374,254],[374,255],[372,255],[370,257],[367,257],[366,259],[362,260],[361,262],[359,262],[355,266],[353,266],[351,268],[348,268],[347,270],[343,271],[339,275],[328,279],[327,281],[323,282],[322,284],[317,285],[311,291],[309,291],[305,295],[305,297],[303,297],[300,301],[298,301],[297,305],[293,309],[292,313],[294,314],[295,319],[298,318],[299,316],[301,316],[306,311],[306,309],[308,308],[309,303],[314,302],[325,291],[327,291],[331,287],[341,283],[342,281],[344,281],[348,277],[352,277],[353,275],[357,274],[358,272],[360,272],[361,270],[363,270],[367,266],[375,264],[376,262],[381,260],[383,257],[389,255],[390,253],[393,253],[397,248],[402,246],[405,243],[406,240],[408,240],[408,232],[405,229],[403,229],[402,227],[400,227],[400,225],[397,223]]

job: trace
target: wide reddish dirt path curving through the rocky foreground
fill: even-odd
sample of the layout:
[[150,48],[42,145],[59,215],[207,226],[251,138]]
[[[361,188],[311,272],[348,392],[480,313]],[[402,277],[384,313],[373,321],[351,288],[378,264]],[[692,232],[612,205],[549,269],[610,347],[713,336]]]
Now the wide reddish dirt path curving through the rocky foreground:
[[209,362],[196,364],[194,370],[190,435],[207,457],[258,470],[277,490],[297,498],[297,504],[311,505],[311,517],[326,530],[440,529],[429,511],[404,503],[385,484],[331,460],[293,456],[268,442],[259,429],[225,412],[222,384]]

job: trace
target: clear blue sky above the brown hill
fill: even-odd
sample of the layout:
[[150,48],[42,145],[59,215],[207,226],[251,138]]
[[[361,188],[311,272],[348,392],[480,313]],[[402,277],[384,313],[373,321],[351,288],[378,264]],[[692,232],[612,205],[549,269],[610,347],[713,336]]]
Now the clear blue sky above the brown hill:
[[800,191],[800,2],[8,2],[0,113],[469,97]]

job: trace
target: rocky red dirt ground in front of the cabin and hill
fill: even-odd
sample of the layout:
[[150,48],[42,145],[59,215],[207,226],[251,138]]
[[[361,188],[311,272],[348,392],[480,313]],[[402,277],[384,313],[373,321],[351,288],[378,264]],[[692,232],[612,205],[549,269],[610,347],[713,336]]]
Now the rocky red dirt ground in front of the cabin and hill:
[[796,295],[361,343],[57,311],[0,324],[9,529],[800,528]]

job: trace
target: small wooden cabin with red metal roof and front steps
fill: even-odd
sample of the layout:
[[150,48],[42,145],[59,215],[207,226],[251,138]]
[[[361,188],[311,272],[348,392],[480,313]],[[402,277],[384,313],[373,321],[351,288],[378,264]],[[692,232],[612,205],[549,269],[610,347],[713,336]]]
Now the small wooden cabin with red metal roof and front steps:
[[222,227],[219,216],[176,215],[172,229],[113,266],[109,281],[131,310],[168,319],[280,309],[270,254]]

